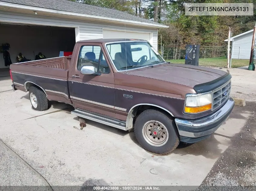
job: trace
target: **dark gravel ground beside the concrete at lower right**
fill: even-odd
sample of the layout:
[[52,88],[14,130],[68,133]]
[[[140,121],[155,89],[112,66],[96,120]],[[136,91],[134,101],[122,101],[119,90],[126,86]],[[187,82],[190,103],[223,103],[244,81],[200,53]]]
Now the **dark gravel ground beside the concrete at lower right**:
[[251,112],[251,116],[241,132],[231,139],[232,144],[216,161],[200,190],[209,186],[217,186],[216,190],[227,189],[221,186],[233,186],[232,190],[249,187],[256,190],[256,102],[246,104],[244,110]]

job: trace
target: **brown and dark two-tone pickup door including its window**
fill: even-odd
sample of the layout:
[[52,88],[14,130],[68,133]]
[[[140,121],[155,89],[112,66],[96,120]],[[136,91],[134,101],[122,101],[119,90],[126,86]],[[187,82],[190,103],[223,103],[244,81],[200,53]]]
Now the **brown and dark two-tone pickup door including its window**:
[[[79,43],[78,59],[71,72],[71,100],[74,107],[115,117],[115,81],[101,43]],[[74,59],[75,62],[75,59]],[[81,74],[83,65],[93,65],[100,75]]]

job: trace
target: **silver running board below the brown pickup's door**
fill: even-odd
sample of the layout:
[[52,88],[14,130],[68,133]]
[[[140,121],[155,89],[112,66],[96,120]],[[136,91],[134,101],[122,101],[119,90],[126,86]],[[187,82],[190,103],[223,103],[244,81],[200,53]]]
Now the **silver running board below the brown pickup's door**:
[[71,111],[71,114],[126,131],[125,121],[121,121],[109,116],[101,115],[98,113],[92,113],[81,109]]

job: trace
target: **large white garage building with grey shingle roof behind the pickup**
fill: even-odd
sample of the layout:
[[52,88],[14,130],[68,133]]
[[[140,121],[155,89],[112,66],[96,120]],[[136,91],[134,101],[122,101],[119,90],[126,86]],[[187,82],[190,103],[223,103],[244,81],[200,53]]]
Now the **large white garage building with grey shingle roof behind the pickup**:
[[[134,38],[148,40],[157,49],[158,28],[168,26],[115,9],[68,0],[0,0],[0,46],[10,44],[12,63],[18,53],[34,60],[72,51],[79,40]],[[0,47],[1,68],[8,68]],[[0,75],[1,76],[1,75]]]

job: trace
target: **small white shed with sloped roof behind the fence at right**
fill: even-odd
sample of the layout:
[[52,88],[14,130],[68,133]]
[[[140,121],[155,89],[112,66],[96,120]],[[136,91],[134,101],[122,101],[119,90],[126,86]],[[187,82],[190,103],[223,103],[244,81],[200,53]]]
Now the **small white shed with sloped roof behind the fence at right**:
[[[252,35],[253,29],[230,38],[232,59],[250,59]],[[228,41],[228,39],[224,41]]]

